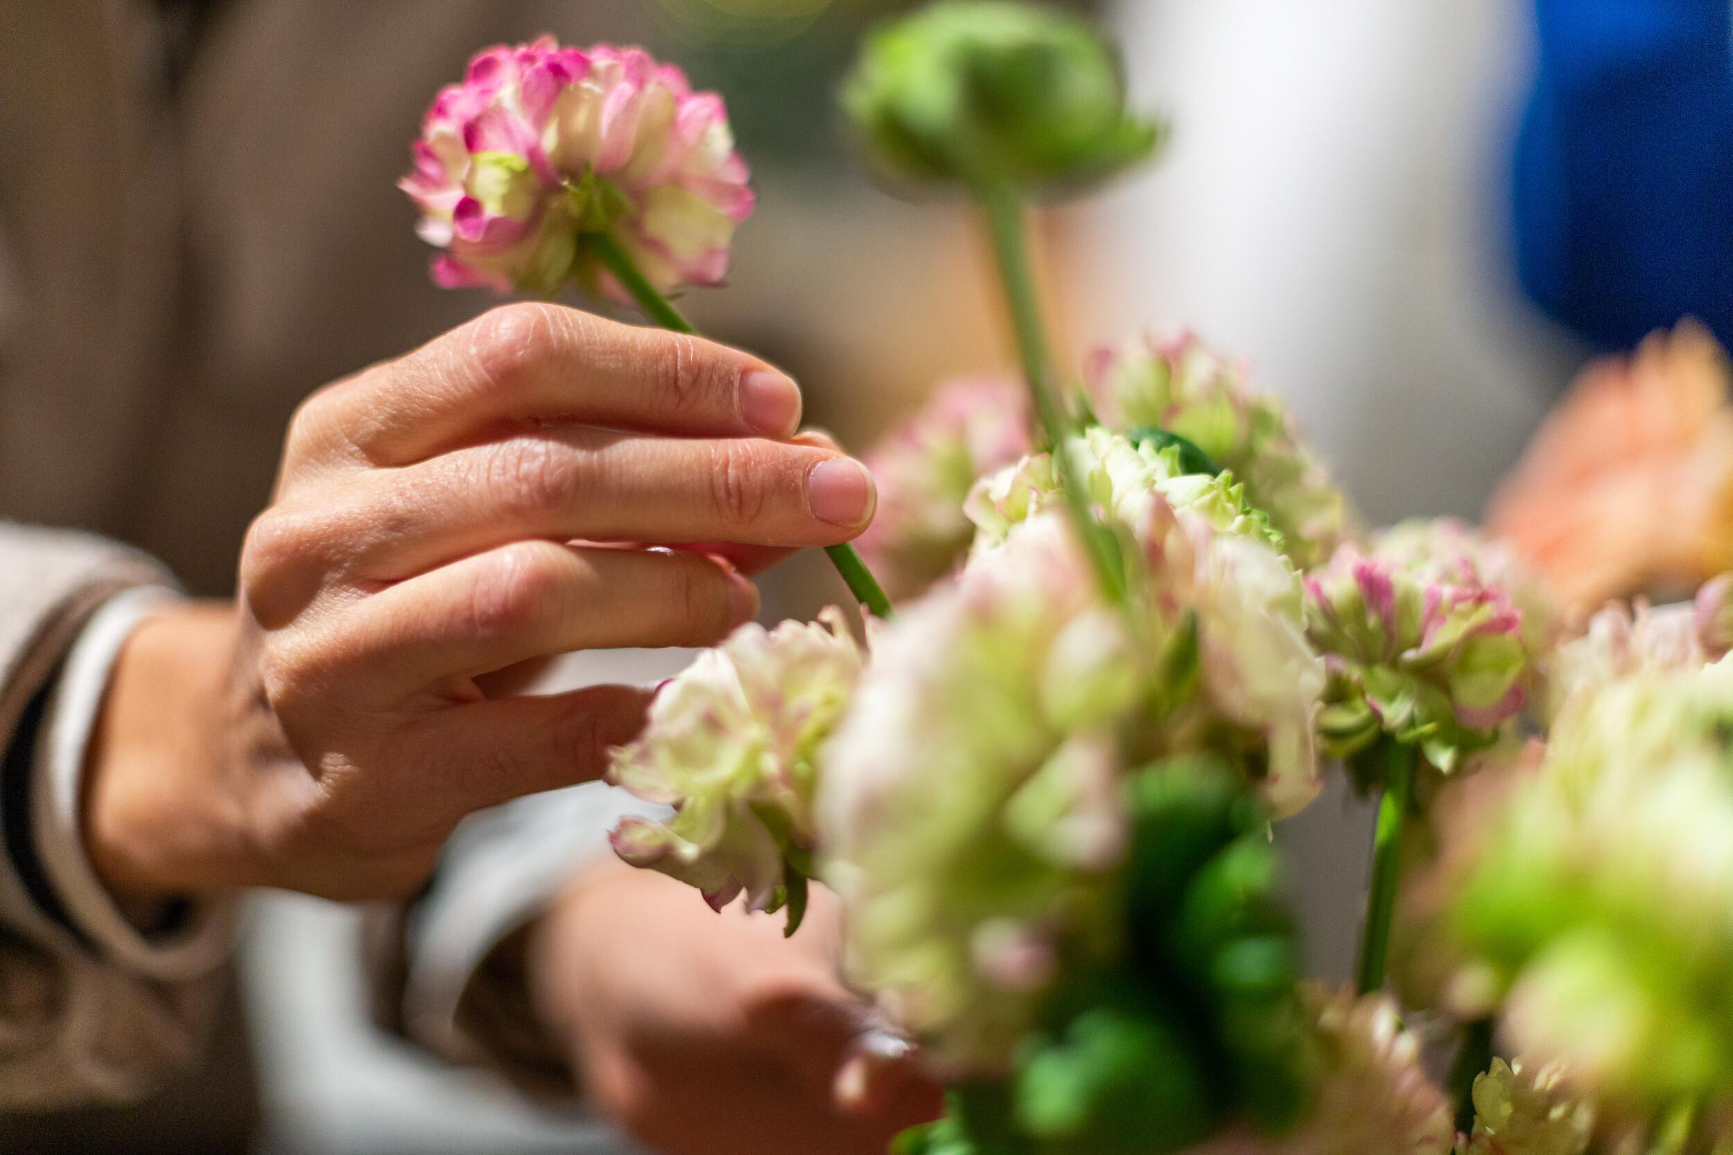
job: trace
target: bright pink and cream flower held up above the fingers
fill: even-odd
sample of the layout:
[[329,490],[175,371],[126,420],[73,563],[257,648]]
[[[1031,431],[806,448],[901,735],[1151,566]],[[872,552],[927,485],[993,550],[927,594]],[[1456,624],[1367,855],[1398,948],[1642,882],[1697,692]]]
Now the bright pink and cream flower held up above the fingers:
[[629,301],[586,251],[610,232],[662,293],[717,284],[752,213],[721,97],[641,48],[497,45],[440,90],[399,182],[447,287],[556,293],[567,281]]

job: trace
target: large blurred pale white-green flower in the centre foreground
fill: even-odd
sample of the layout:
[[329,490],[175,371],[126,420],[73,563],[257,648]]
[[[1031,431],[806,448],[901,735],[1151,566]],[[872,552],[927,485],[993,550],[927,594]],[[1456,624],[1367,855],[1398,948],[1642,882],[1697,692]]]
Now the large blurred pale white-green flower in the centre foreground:
[[1095,608],[1064,519],[1021,525],[886,629],[825,752],[846,970],[950,1070],[1007,1060],[1126,840],[1111,726],[1140,675]]

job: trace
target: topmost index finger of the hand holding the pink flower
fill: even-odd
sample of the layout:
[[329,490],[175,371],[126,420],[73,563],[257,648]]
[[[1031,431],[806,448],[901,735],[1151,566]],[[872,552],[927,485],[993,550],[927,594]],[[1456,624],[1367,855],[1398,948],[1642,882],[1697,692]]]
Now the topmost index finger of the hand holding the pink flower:
[[406,466],[499,429],[582,423],[678,436],[789,438],[801,390],[704,338],[561,305],[504,305],[315,395],[314,445]]

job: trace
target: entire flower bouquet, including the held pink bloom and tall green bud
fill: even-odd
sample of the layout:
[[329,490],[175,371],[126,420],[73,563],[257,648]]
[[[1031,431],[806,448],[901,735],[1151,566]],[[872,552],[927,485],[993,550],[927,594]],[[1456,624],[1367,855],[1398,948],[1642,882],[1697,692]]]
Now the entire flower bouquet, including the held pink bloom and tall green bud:
[[[664,689],[610,774],[674,816],[619,855],[789,933],[842,897],[847,980],[950,1086],[901,1155],[1733,1145],[1730,584],[1572,629],[1464,525],[1360,532],[1198,338],[1054,364],[1029,204],[1163,139],[1090,23],[946,0],[841,97],[886,185],[977,206],[1021,379],[870,455],[830,551],[865,639],[747,625]],[[490,48],[414,156],[442,284],[683,331],[752,210],[723,102],[633,48]],[[1270,840],[1334,767],[1379,800],[1350,990],[1301,980]]]

